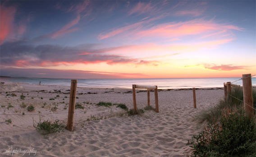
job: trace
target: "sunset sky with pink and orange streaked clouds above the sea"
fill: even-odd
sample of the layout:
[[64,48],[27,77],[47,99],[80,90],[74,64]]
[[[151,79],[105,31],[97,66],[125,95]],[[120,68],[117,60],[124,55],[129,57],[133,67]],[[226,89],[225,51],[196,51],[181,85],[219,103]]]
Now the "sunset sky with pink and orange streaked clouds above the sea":
[[2,1],[3,76],[256,74],[256,1]]

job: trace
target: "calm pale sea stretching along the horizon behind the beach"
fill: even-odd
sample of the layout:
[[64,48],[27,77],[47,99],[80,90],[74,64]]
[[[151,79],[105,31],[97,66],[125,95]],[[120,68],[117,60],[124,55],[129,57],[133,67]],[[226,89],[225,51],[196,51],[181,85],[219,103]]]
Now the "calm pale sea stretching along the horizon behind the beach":
[[[45,85],[70,86],[71,79],[51,78],[20,78],[1,77],[14,83],[34,83]],[[78,79],[78,87],[106,87],[106,88],[132,88],[132,84],[157,85],[160,89],[190,88],[190,87],[223,87],[224,82],[233,82],[240,78],[187,78],[187,79]],[[256,86],[256,78],[252,78],[252,85]],[[234,84],[242,85],[242,80]]]

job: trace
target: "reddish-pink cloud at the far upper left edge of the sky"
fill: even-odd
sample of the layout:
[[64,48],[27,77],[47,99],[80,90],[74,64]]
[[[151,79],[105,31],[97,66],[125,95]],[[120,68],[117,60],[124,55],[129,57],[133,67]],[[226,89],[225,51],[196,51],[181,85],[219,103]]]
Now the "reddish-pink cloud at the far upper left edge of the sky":
[[0,6],[0,44],[10,35],[14,29],[15,7],[6,7],[5,4]]

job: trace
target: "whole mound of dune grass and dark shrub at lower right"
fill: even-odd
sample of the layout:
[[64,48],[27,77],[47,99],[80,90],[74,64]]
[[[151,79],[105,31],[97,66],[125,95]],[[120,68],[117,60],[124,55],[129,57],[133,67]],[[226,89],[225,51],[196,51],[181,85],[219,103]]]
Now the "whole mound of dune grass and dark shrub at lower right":
[[[230,95],[243,100],[242,88],[234,87]],[[192,157],[256,156],[256,115],[249,118],[243,103],[232,96],[196,117],[199,122],[208,124],[187,142],[192,148]],[[255,108],[255,90],[253,100]]]

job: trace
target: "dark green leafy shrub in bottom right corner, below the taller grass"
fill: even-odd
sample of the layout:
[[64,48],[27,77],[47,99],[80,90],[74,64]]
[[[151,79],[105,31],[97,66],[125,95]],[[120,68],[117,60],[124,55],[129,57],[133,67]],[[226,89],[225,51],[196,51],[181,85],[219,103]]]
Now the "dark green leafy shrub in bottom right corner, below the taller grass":
[[249,118],[244,109],[226,110],[216,122],[209,122],[205,131],[192,136],[187,145],[194,157],[256,156],[255,117]]

